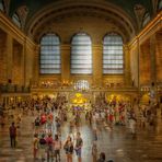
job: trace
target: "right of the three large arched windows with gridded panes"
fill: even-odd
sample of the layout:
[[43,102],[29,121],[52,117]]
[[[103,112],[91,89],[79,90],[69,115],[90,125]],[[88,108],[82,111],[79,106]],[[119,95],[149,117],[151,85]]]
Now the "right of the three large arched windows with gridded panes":
[[109,33],[104,37],[103,73],[124,73],[123,38],[116,33]]

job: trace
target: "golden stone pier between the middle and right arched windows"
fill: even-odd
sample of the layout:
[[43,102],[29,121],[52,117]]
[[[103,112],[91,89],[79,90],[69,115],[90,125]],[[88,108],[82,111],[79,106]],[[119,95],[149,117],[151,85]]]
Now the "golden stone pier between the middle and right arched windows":
[[103,48],[102,45],[93,45],[92,47],[92,62],[93,62],[93,84],[102,86],[103,76]]

